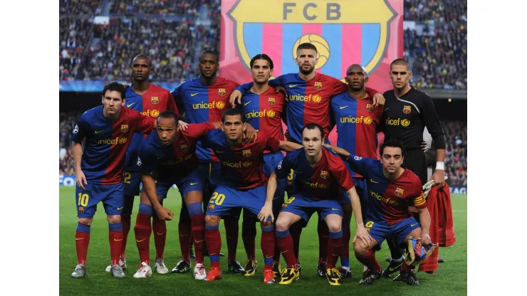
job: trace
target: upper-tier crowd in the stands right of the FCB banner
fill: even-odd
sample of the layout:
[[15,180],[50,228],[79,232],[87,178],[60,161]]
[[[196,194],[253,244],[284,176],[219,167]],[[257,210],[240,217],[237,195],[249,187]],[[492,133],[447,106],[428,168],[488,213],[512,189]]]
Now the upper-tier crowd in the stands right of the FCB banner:
[[416,88],[466,89],[466,0],[405,0],[405,58]]

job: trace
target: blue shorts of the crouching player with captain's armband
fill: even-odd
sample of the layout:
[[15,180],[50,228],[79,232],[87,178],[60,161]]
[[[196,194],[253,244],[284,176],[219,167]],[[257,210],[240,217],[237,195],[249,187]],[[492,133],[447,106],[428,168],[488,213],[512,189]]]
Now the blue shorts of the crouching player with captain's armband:
[[377,243],[379,243],[379,249],[382,241],[392,237],[395,237],[397,243],[401,245],[402,242],[405,241],[405,238],[412,233],[414,229],[421,227],[421,224],[412,217],[406,218],[394,225],[388,225],[386,221],[372,221],[370,218],[366,218],[364,221],[366,221],[364,225],[367,232],[369,232],[370,236],[375,238]]

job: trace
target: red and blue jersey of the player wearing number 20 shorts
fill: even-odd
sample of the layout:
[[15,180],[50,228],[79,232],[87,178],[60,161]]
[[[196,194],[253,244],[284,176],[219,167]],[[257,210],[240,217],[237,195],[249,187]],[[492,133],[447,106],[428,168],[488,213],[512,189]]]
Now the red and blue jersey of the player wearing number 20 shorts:
[[268,178],[263,171],[264,151],[278,152],[280,149],[280,141],[266,134],[259,134],[256,141],[242,143],[241,147],[231,149],[221,130],[209,132],[203,145],[212,148],[220,160],[219,182],[239,190],[266,185]]

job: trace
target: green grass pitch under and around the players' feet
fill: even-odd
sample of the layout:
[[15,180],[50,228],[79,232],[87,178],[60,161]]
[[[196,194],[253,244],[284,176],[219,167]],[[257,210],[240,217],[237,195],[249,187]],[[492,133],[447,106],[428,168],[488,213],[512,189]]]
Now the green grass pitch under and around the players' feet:
[[[221,280],[205,282],[194,280],[192,270],[184,275],[169,273],[158,275],[153,273],[152,277],[146,279],[135,279],[132,275],[139,265],[139,253],[135,245],[133,226],[135,215],[139,206],[139,197],[135,198],[134,211],[132,214],[132,229],[130,229],[127,243],[127,270],[126,278],[114,279],[105,268],[110,264],[110,247],[108,244],[108,222],[105,218],[102,204],[98,205],[98,211],[93,219],[90,235],[90,246],[88,248],[88,275],[83,279],[70,277],[75,268],[77,256],[75,253],[75,226],[77,217],[75,211],[75,187],[61,186],[59,189],[60,199],[60,224],[59,224],[59,289],[61,295],[325,295],[325,293],[337,293],[346,295],[466,295],[466,195],[452,195],[452,209],[454,214],[454,227],[456,230],[456,244],[449,248],[441,248],[439,254],[446,260],[439,264],[439,270],[434,275],[417,273],[420,286],[409,286],[404,283],[392,282],[387,279],[376,280],[374,285],[362,286],[358,284],[362,277],[362,265],[350,252],[351,270],[353,278],[343,280],[340,287],[330,286],[327,280],[316,275],[318,262],[318,236],[316,231],[316,217],[312,218],[308,227],[304,229],[301,237],[300,260],[302,263],[302,275],[300,280],[292,285],[264,285],[262,268],[263,255],[260,250],[260,229],[256,236],[256,259],[259,268],[254,277],[234,275],[226,269],[226,257],[222,257],[221,268],[224,276]],[[165,206],[170,208],[179,217],[179,206],[181,197],[177,189],[171,189],[165,200]],[[179,241],[177,235],[177,222],[167,221],[167,245],[165,247],[165,265],[172,270],[180,259]],[[240,221],[241,223],[241,221]],[[354,223],[352,222],[352,225]],[[221,231],[221,252],[226,254],[225,232],[223,223]],[[352,226],[354,233],[354,226]],[[352,233],[352,238],[353,234]],[[245,263],[246,255],[243,241],[240,237],[238,243],[237,257],[242,265]],[[377,260],[385,268],[385,258],[389,251],[384,243],[382,250],[377,252]],[[150,242],[150,258],[153,260],[155,246],[153,236]],[[209,258],[205,258],[205,267],[210,267]],[[338,263],[340,265],[340,262]],[[282,258],[282,267],[283,258]],[[153,267],[153,266],[152,266]],[[194,265],[192,265],[194,268]]]

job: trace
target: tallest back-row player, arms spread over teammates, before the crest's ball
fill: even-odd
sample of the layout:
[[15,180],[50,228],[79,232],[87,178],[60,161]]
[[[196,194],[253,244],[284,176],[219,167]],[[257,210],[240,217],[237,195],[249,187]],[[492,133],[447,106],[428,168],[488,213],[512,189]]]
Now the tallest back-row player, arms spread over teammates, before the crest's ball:
[[[311,43],[301,43],[296,49],[296,63],[298,73],[289,73],[281,75],[273,80],[269,80],[269,85],[276,88],[281,86],[286,89],[288,102],[286,104],[286,125],[288,134],[292,142],[302,142],[302,128],[308,123],[316,123],[323,127],[325,142],[328,142],[328,136],[331,131],[330,120],[330,100],[334,95],[343,93],[348,90],[348,85],[342,81],[328,75],[315,72],[315,65],[318,63],[317,49]],[[246,92],[251,88],[253,83],[240,85],[231,94],[229,102],[235,104],[236,98],[241,97],[241,92]],[[373,97],[373,105],[383,105],[385,98],[372,88],[366,88],[366,92]],[[290,183],[293,184],[295,178],[294,171],[288,176],[288,188],[292,191]],[[295,241],[295,253],[298,259],[298,245],[300,244],[300,235],[302,227],[300,224],[291,228],[291,234]],[[319,264],[318,275],[325,276],[325,253],[328,245],[328,227],[324,221],[318,222],[318,248]]]

